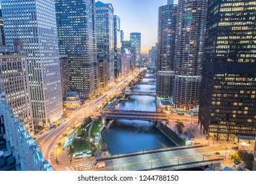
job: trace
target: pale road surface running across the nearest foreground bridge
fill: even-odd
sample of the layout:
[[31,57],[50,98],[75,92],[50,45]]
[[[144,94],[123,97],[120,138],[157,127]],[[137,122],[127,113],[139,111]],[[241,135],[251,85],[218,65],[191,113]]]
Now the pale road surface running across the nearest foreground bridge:
[[[172,170],[180,169],[186,163],[193,162],[216,162],[220,159],[214,152],[226,154],[229,157],[230,150],[225,150],[223,147],[215,145],[211,147],[201,147],[194,149],[172,150],[166,152],[155,152],[150,154],[141,154],[138,156],[128,156],[125,158],[115,158],[105,161],[105,168],[93,169],[97,171],[135,171],[135,170],[160,170],[159,168],[168,168],[172,166]],[[205,153],[211,153],[211,156],[205,156]],[[222,157],[223,158],[223,157]],[[221,159],[222,159],[221,158]],[[223,158],[224,159],[224,158]],[[220,160],[224,162],[226,160]],[[100,161],[101,162],[101,161]]]

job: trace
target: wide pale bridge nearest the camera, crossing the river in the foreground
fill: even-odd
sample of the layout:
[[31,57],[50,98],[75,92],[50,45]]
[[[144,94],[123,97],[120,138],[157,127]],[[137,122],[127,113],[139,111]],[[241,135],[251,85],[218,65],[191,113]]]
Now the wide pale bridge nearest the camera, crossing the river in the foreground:
[[[97,158],[97,162],[105,161],[105,168],[97,170],[105,171],[142,171],[142,170],[180,170],[187,168],[204,167],[216,162],[224,162],[223,157],[214,152],[225,154],[222,145],[204,147],[194,145],[192,147],[172,147],[156,150],[142,150],[127,154],[115,154],[108,157]],[[212,156],[205,156],[210,152]]]

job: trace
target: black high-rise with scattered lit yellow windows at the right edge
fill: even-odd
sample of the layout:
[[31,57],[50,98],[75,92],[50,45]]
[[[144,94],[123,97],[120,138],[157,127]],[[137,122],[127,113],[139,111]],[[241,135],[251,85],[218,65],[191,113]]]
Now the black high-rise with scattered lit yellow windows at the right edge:
[[199,122],[217,139],[256,135],[256,1],[209,1]]

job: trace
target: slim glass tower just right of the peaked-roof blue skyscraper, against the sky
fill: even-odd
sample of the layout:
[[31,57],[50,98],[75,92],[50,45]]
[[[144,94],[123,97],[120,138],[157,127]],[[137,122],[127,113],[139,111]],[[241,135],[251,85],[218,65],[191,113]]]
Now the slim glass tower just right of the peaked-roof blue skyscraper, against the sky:
[[120,34],[120,18],[114,15],[114,51],[115,51],[115,79],[120,76],[120,48],[121,48],[121,34]]

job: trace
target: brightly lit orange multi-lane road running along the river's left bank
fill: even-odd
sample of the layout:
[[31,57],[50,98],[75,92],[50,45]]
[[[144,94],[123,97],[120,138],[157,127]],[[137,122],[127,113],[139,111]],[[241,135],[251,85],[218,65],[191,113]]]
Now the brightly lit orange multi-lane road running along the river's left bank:
[[[41,145],[43,157],[53,166],[53,170],[73,170],[68,160],[68,151],[63,150],[62,147],[57,147],[57,143],[63,143],[64,139],[66,139],[63,135],[69,134],[74,125],[75,127],[79,126],[86,116],[90,116],[91,113],[95,112],[95,109],[102,106],[103,101],[111,99],[113,95],[118,93],[118,91],[121,91],[122,88],[125,85],[128,85],[128,83],[138,76],[138,74],[139,72],[134,72],[134,74],[117,83],[115,87],[109,89],[109,91],[103,92],[97,99],[83,104],[79,110],[68,112],[67,118],[59,120],[59,122],[62,122],[60,126],[38,135],[36,141]],[[58,158],[59,164],[56,163],[56,158]]]

